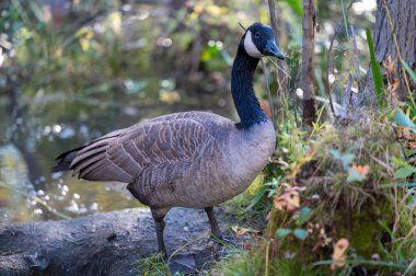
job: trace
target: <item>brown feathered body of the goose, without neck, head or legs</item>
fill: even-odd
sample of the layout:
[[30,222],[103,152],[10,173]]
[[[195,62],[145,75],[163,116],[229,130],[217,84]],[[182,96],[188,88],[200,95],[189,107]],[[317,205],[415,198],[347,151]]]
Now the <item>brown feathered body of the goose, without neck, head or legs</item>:
[[157,117],[113,131],[77,151],[78,177],[129,183],[153,208],[207,207],[242,193],[275,149],[265,122],[246,130],[207,112]]

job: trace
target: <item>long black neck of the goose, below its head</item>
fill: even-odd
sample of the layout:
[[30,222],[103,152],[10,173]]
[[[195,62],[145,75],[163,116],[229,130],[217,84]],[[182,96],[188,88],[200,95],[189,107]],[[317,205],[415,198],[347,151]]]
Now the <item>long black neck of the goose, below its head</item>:
[[241,120],[236,124],[238,128],[247,129],[268,120],[253,89],[253,77],[258,61],[258,58],[247,55],[242,41],[236,51],[231,76],[231,93]]

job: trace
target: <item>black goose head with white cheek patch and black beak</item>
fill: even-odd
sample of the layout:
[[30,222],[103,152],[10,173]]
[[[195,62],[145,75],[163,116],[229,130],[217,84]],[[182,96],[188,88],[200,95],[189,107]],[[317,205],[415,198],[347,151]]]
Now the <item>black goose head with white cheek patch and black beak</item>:
[[251,25],[243,36],[243,46],[249,56],[262,58],[265,56],[285,59],[275,43],[273,28],[262,23]]

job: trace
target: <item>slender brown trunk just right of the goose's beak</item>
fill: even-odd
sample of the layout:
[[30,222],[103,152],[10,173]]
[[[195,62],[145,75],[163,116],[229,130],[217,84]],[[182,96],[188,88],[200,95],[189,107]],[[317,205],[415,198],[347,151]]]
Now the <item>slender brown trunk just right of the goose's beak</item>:
[[314,41],[315,41],[315,8],[314,0],[303,0],[303,46],[302,46],[302,90],[303,90],[303,124],[312,126],[316,120],[315,76],[314,76]]

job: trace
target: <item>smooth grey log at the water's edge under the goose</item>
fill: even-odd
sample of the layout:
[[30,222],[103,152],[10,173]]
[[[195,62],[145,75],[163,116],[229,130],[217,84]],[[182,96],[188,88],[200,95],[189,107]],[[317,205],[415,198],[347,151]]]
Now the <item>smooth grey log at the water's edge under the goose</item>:
[[[192,241],[208,232],[204,210],[171,210],[164,232],[169,254],[190,243],[183,252],[203,266],[216,245],[209,238]],[[0,275],[138,275],[138,260],[157,248],[147,208],[12,225],[0,229]]]

